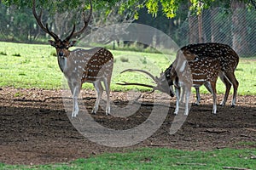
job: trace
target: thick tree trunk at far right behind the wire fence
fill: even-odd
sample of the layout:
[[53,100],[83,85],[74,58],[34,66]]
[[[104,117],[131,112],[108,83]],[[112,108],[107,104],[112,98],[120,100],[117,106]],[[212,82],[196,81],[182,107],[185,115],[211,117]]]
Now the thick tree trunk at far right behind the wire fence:
[[245,3],[239,0],[231,0],[232,14],[232,46],[237,54],[246,55],[247,49],[247,20]]

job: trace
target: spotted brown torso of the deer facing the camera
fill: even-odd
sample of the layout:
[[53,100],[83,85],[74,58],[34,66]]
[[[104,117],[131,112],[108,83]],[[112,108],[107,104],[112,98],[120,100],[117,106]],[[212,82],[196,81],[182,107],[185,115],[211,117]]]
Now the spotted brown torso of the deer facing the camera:
[[59,66],[65,77],[80,79],[81,84],[111,77],[113,71],[113,55],[106,48],[78,48],[67,56],[67,66],[60,63],[59,57]]

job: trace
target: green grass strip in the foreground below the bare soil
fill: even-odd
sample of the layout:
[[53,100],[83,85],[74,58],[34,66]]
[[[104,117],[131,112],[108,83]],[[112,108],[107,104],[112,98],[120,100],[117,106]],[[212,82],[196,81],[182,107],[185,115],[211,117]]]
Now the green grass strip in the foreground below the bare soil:
[[0,164],[0,169],[255,169],[256,149],[223,149],[184,151],[166,148],[139,149],[126,153],[103,154],[88,159],[60,164],[13,166]]

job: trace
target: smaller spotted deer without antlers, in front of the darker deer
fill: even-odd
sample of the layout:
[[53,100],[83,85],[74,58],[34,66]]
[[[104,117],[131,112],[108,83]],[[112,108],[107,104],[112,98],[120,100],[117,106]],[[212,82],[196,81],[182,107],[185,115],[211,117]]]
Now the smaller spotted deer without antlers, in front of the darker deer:
[[196,59],[195,61],[191,61],[187,59],[179,59],[177,57],[177,59],[173,62],[173,66],[170,71],[170,78],[175,87],[177,97],[174,114],[177,114],[179,109],[178,105],[180,100],[181,88],[183,88],[183,94],[185,95],[184,115],[188,115],[189,96],[191,94],[191,88],[192,86],[195,88],[200,88],[201,85],[205,85],[207,89],[211,92],[213,98],[212,113],[216,114],[216,82],[220,71],[221,66],[218,59],[204,57]]

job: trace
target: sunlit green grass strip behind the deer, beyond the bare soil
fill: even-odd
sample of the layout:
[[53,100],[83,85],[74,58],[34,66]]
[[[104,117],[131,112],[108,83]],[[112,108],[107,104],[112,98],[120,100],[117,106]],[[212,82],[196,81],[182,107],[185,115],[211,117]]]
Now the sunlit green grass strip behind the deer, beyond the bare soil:
[[[159,76],[161,71],[172,63],[175,53],[150,54],[131,51],[114,50],[114,68],[111,88],[113,91],[124,91],[131,88],[149,90],[142,87],[123,87],[116,82],[152,82],[150,78],[140,73],[119,74],[128,68],[137,68],[150,71]],[[14,88],[44,88],[61,89],[65,80],[57,58],[54,56],[55,48],[49,45],[33,45],[13,42],[0,42],[0,87]],[[238,94],[256,94],[256,58],[240,59],[236,77],[240,82]],[[92,88],[85,83],[84,88]],[[224,84],[218,81],[218,94],[224,94]],[[201,93],[207,93],[201,88]]]

